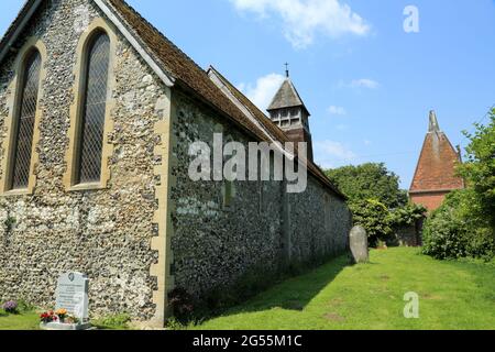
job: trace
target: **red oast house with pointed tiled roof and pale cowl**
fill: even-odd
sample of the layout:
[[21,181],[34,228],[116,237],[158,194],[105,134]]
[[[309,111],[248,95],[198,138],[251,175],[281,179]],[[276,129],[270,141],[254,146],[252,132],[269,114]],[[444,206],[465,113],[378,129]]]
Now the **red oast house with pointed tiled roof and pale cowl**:
[[455,176],[455,165],[461,162],[460,150],[452,146],[431,111],[429,131],[409,190],[413,202],[433,211],[450,191],[464,188],[463,179]]

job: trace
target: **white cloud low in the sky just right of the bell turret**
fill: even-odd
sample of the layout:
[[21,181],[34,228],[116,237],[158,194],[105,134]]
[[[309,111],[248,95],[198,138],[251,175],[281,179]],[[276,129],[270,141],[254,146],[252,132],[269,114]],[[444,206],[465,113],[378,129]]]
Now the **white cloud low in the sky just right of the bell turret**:
[[315,160],[324,168],[333,168],[350,164],[356,160],[356,155],[345,145],[339,142],[326,140],[314,144]]

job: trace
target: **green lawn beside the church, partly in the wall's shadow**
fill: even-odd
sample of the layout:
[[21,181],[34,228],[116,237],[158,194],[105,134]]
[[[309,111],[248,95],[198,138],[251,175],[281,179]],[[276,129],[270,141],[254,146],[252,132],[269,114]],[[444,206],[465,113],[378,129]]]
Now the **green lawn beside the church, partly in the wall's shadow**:
[[[420,298],[420,318],[404,318],[404,295]],[[495,329],[495,264],[439,262],[418,249],[372,251],[288,279],[194,329]]]

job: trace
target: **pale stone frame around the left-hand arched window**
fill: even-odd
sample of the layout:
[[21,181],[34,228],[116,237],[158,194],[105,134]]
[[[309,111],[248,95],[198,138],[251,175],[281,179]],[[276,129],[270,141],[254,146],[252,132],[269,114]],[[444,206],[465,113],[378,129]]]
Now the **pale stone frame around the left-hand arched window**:
[[[34,117],[34,130],[33,130],[33,141],[32,141],[32,152],[31,152],[31,165],[30,165],[30,176],[28,188],[24,189],[10,189],[10,180],[12,174],[12,163],[13,163],[13,143],[14,136],[14,123],[18,114],[20,113],[19,106],[21,103],[21,90],[23,89],[24,70],[26,68],[26,59],[33,51],[37,51],[41,56],[41,67],[40,67],[40,85],[37,90],[37,103],[36,112]],[[6,118],[7,133],[3,140],[3,158],[1,162],[2,175],[0,179],[0,195],[1,196],[29,196],[33,195],[34,188],[37,183],[37,175],[35,173],[36,165],[40,163],[40,154],[37,152],[37,145],[40,143],[40,123],[43,116],[43,108],[41,101],[44,97],[44,85],[46,79],[46,62],[48,55],[46,46],[40,37],[28,37],[25,44],[19,51],[18,57],[14,63],[14,76],[11,84],[8,87],[10,91],[8,98],[9,114]]]

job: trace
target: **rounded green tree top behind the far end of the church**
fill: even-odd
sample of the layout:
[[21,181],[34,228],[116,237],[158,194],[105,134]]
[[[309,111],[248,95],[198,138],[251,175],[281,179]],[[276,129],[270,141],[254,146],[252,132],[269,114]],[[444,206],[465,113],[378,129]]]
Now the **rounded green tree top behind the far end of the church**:
[[327,170],[327,176],[351,202],[376,199],[388,209],[404,207],[407,193],[399,188],[399,177],[385,164],[367,163]]

